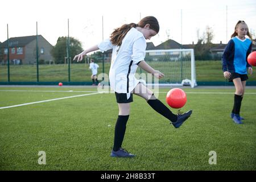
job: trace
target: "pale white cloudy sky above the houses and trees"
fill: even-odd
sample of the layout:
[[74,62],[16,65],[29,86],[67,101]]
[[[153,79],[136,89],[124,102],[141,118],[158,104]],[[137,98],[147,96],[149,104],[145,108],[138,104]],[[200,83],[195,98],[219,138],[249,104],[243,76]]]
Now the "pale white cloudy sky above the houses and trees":
[[68,35],[69,19],[69,36],[86,48],[102,40],[102,16],[104,39],[123,23],[155,16],[160,24],[159,35],[151,39],[155,46],[168,34],[179,43],[196,43],[198,30],[201,36],[207,26],[213,30],[214,43],[226,43],[238,20],[245,20],[256,34],[256,0],[12,0],[2,1],[0,7],[0,42],[7,39],[7,23],[11,38],[36,35],[38,21],[38,34],[55,46],[59,36]]

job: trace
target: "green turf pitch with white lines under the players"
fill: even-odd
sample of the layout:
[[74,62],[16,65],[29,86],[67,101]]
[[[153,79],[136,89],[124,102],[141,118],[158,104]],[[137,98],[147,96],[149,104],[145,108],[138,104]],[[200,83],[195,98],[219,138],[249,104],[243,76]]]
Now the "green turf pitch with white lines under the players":
[[[164,103],[168,90],[159,90]],[[234,88],[183,90],[182,110],[193,114],[179,129],[134,96],[123,142],[133,159],[109,156],[118,115],[114,94],[0,109],[0,170],[255,170],[256,89],[246,89],[243,125],[229,117]],[[2,87],[0,107],[89,93],[96,88]],[[39,151],[46,152],[46,165],[38,164]],[[210,151],[217,164],[209,164]]]

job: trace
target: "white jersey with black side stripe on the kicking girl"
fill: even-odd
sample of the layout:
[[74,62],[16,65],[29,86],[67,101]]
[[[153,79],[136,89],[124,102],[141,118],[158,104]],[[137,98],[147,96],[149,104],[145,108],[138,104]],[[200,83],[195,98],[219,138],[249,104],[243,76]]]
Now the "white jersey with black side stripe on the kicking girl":
[[146,55],[146,39],[136,28],[131,28],[121,46],[113,46],[109,39],[98,44],[102,52],[113,48],[109,70],[110,88],[117,93],[130,93],[138,84],[135,73]]

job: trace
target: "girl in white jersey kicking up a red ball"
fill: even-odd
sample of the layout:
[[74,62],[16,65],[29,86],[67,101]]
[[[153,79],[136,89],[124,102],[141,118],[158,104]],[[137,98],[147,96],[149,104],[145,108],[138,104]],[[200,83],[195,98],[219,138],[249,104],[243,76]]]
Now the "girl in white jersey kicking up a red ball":
[[[115,124],[114,147],[110,154],[112,157],[130,158],[135,156],[121,147],[125,136],[126,123],[130,115],[130,102],[133,102],[133,94],[144,98],[155,111],[166,117],[175,128],[180,127],[192,114],[192,110],[181,115],[173,114],[168,107],[154,96],[150,89],[135,78],[138,66],[146,72],[154,74],[155,77],[162,78],[164,76],[163,73],[151,68],[144,61],[146,39],[150,40],[158,32],[158,20],[154,16],[146,16],[138,24],[123,24],[112,32],[110,39],[104,40],[97,46],[90,47],[74,57],[74,60],[81,61],[86,53],[98,49],[102,52],[113,49],[109,81],[110,87],[115,92],[119,115]],[[141,90],[146,90],[146,93]]]

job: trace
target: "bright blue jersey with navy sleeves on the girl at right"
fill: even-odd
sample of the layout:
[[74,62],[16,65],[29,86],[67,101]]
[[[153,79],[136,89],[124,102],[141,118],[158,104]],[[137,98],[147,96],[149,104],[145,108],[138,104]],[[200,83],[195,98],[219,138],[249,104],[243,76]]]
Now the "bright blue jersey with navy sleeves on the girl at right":
[[250,64],[247,57],[251,52],[251,40],[241,40],[237,36],[229,40],[222,55],[222,70],[230,73],[247,74]]

